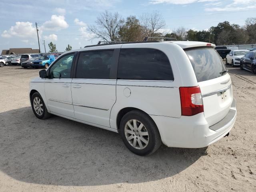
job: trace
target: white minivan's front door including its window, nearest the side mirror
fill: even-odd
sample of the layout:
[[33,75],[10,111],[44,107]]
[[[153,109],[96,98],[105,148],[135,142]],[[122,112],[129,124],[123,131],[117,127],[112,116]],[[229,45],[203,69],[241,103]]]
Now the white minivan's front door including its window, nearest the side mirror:
[[72,106],[71,95],[71,68],[73,58],[66,62],[70,56],[74,57],[75,53],[64,55],[59,58],[48,69],[49,77],[44,83],[44,90],[50,112],[75,118],[74,108]]

